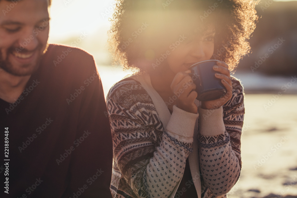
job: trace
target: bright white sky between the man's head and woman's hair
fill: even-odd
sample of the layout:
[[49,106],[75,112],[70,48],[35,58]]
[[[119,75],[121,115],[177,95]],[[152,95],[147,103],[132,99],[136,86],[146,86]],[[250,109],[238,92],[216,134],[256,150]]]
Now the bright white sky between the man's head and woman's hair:
[[49,41],[58,42],[81,32],[107,31],[114,3],[115,0],[52,0]]

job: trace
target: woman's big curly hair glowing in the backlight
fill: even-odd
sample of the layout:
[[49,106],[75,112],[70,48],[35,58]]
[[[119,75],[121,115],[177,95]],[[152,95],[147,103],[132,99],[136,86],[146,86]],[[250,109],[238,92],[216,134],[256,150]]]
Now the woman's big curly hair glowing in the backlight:
[[168,50],[179,35],[191,37],[214,25],[214,59],[230,72],[250,52],[259,0],[116,0],[108,42],[113,64],[139,73]]

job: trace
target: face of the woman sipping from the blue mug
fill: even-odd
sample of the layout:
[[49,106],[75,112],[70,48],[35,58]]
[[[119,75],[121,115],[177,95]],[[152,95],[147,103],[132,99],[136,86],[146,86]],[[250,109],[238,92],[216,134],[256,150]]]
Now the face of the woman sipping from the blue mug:
[[170,48],[167,58],[169,68],[174,73],[184,72],[194,63],[209,60],[214,53],[214,35],[213,25],[192,37],[181,35]]

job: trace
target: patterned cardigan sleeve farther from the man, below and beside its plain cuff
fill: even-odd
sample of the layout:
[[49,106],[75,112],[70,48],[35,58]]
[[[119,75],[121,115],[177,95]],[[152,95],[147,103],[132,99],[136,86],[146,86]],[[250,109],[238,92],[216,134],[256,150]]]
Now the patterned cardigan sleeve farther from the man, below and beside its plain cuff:
[[[203,198],[226,197],[225,194],[235,185],[240,175],[240,138],[244,119],[244,92],[238,80],[231,77],[231,81],[232,98],[221,107],[223,112],[218,114],[222,115],[225,132],[210,136],[205,132],[200,132],[198,135],[199,164],[202,174],[201,197]],[[219,112],[219,110],[215,110],[217,112],[206,114],[206,111],[211,110],[203,111],[204,113],[199,119],[208,119],[213,116],[211,113]],[[202,120],[199,121],[199,123],[201,122]]]

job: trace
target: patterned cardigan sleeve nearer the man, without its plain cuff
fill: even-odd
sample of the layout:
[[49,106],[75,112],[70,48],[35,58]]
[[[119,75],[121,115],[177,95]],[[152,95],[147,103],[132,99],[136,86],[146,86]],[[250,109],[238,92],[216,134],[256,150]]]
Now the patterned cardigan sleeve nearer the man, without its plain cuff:
[[184,173],[192,138],[164,129],[148,93],[124,79],[110,89],[113,197],[169,197]]

